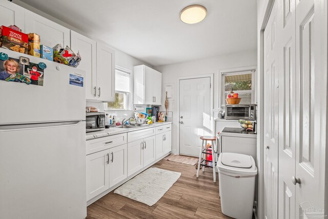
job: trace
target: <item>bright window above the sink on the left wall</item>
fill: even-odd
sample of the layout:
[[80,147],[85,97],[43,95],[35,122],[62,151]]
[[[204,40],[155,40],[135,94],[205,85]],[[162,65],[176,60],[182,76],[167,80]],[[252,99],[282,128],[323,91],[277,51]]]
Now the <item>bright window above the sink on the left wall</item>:
[[122,68],[115,68],[115,102],[107,103],[107,109],[130,109],[130,72]]

